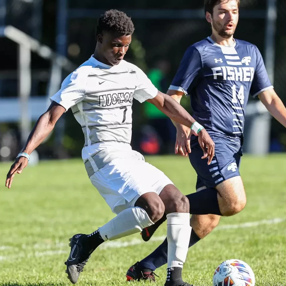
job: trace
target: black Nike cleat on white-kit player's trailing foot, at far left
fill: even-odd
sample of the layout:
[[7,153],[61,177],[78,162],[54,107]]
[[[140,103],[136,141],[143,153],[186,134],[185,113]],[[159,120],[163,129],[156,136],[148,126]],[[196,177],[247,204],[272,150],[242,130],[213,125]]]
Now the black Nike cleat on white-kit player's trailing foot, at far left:
[[76,234],[69,239],[69,246],[71,247],[71,252],[65,265],[67,266],[67,278],[73,283],[76,284],[80,273],[83,271],[84,266],[86,265],[90,254],[94,249],[87,250],[83,245],[84,238],[87,237],[86,234]]

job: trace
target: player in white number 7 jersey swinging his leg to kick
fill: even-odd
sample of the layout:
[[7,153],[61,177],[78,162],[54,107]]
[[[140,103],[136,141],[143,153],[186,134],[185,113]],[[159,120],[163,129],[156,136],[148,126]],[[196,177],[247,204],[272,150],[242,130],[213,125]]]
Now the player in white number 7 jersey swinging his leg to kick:
[[148,100],[172,120],[191,127],[208,163],[214,143],[203,127],[174,99],[159,92],[136,65],[123,60],[134,26],[125,13],[110,10],[99,19],[94,55],[78,67],[51,97],[51,105],[35,124],[27,143],[7,174],[11,187],[15,173],[27,166],[29,154],[51,132],[69,108],[82,126],[82,158],[92,184],[117,216],[90,235],[70,239],[65,262],[72,283],[78,281],[90,254],[104,241],[142,231],[167,215],[168,271],[166,286],[190,286],[182,280],[191,227],[189,201],[163,172],[131,149],[132,101]]

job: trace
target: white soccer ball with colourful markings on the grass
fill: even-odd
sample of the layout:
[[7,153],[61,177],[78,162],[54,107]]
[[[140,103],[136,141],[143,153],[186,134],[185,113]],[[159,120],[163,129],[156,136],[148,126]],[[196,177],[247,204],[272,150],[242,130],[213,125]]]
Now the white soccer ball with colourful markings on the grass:
[[247,263],[230,259],[217,267],[212,282],[213,286],[254,286],[255,277]]

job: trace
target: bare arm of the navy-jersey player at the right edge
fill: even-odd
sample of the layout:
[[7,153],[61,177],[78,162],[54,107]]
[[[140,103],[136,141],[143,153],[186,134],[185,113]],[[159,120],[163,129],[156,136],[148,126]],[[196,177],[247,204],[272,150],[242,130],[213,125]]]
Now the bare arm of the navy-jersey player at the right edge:
[[286,108],[273,88],[265,90],[258,95],[271,115],[286,127]]

